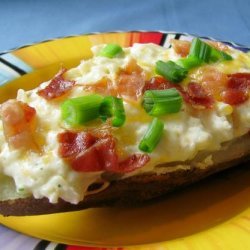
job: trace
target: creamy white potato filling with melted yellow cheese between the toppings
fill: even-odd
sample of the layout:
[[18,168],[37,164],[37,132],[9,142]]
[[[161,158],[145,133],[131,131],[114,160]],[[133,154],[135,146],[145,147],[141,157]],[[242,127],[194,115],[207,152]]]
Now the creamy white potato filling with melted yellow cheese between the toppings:
[[[124,49],[124,55],[109,59],[98,56],[102,46],[93,48],[92,59],[82,61],[78,67],[67,72],[67,78],[77,82],[69,98],[87,94],[83,86],[95,84],[104,77],[116,84],[117,73],[126,67],[131,58],[136,59],[148,77],[154,75],[156,61],[179,58],[172,49],[153,44],[135,44],[131,48]],[[250,57],[236,50],[231,52],[234,60],[217,63],[216,67],[224,73],[250,72]],[[194,72],[192,74],[193,78],[198,77]],[[47,84],[43,83],[39,88],[44,88]],[[19,90],[17,99],[36,109],[37,138],[43,144],[44,153],[10,150],[0,121],[0,173],[12,177],[18,190],[25,190],[35,198],[47,197],[52,203],[57,202],[59,198],[78,203],[84,198],[88,186],[99,180],[101,172],[74,172],[58,156],[57,134],[64,130],[59,104],[38,96],[37,89]],[[118,151],[122,157],[141,153],[138,144],[152,119],[139,103],[125,101],[124,105],[126,123],[114,131],[118,141]],[[213,110],[198,110],[195,114],[189,112],[184,104],[179,113],[166,115],[161,120],[164,122],[164,134],[156,149],[150,154],[150,162],[145,167],[125,175],[124,178],[148,171],[160,174],[188,169],[190,166],[185,164],[161,169],[156,168],[156,165],[191,160],[199,151],[220,150],[223,142],[249,131],[250,100],[234,108],[217,102]],[[211,157],[208,157],[197,167],[205,168],[212,163]]]

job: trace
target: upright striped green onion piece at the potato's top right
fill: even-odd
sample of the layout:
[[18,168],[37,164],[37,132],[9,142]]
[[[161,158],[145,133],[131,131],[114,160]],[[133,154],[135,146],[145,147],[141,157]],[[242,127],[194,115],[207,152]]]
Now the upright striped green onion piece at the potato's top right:
[[210,60],[212,47],[201,41],[199,38],[194,38],[191,43],[189,56],[196,57],[206,63]]

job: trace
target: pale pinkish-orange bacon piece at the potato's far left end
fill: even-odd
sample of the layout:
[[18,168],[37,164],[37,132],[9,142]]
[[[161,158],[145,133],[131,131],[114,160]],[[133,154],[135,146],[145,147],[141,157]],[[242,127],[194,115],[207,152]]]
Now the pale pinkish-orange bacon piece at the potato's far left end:
[[9,100],[2,104],[3,129],[6,141],[13,149],[37,151],[34,139],[36,110],[27,104]]

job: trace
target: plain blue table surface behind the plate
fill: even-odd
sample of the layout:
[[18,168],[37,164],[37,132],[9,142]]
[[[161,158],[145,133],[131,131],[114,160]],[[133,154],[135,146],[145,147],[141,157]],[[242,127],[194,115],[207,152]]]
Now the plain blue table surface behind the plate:
[[249,0],[1,0],[0,51],[72,34],[167,30],[250,45]]

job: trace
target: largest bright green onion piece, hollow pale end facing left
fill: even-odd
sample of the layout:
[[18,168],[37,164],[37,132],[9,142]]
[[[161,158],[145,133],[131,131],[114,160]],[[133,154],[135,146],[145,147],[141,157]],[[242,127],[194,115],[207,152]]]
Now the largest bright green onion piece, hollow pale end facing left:
[[61,105],[62,119],[71,126],[82,125],[99,117],[103,97],[87,95],[66,100]]

